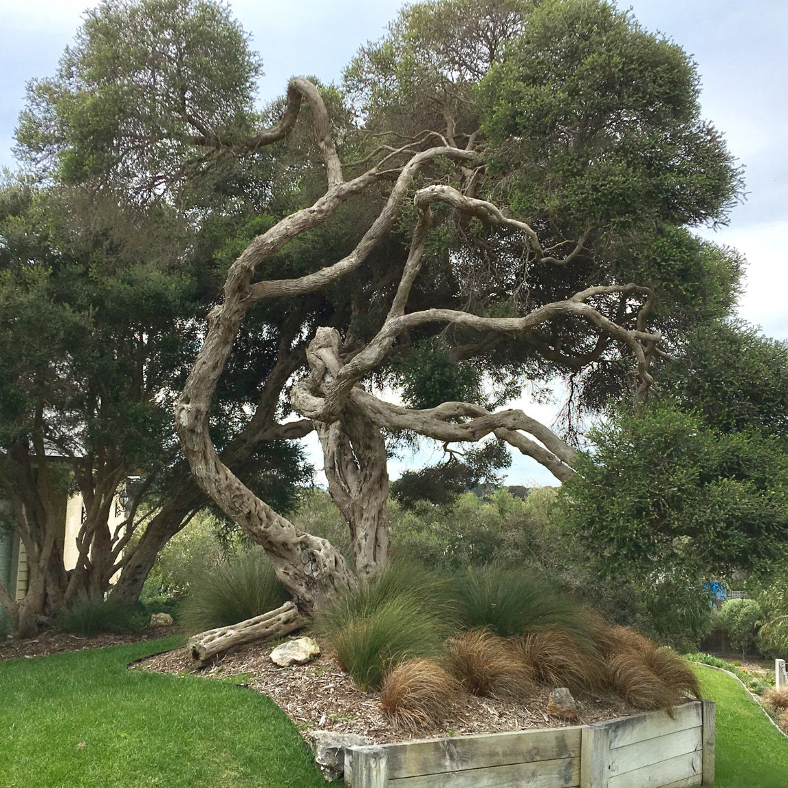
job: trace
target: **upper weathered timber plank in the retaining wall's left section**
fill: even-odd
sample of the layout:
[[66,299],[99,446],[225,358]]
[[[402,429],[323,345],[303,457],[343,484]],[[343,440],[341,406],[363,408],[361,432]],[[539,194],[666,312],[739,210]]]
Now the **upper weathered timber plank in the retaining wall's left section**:
[[581,727],[517,730],[385,745],[389,779],[580,755]]

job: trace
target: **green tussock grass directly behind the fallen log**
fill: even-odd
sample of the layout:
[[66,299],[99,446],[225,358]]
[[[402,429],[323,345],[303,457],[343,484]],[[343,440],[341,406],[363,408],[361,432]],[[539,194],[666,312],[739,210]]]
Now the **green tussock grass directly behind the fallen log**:
[[230,626],[278,608],[289,598],[266,554],[245,550],[191,579],[180,623],[188,634]]

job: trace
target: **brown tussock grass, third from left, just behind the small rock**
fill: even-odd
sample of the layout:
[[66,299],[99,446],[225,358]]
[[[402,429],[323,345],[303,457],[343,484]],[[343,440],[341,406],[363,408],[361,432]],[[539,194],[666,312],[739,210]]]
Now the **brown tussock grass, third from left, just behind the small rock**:
[[519,638],[520,657],[540,681],[573,691],[591,691],[604,680],[597,649],[582,646],[564,630],[551,628]]

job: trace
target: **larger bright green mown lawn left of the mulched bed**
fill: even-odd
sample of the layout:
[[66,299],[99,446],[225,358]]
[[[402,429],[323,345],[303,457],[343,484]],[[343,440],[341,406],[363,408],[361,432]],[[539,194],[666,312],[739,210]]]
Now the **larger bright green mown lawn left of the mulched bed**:
[[325,785],[268,698],[227,682],[127,670],[176,645],[0,663],[0,786]]

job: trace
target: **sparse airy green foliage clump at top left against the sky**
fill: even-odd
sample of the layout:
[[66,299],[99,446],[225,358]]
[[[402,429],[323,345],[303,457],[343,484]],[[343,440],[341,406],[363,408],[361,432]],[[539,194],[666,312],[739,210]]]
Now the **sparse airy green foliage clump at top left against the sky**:
[[17,139],[65,183],[98,178],[151,198],[210,165],[195,139],[253,128],[261,64],[229,10],[206,0],[110,0],[86,12],[58,76],[32,82]]

